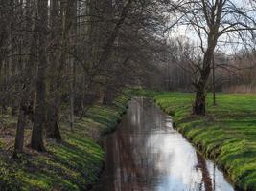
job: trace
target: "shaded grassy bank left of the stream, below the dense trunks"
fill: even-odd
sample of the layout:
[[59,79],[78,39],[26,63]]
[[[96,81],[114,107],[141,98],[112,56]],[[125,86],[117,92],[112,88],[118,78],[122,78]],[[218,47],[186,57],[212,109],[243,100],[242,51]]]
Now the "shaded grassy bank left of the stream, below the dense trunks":
[[[47,153],[36,153],[26,147],[19,160],[11,158],[16,118],[2,115],[0,190],[86,190],[99,179],[103,167],[102,136],[113,131],[127,103],[128,96],[119,96],[112,106],[94,105],[85,117],[76,118],[73,132],[63,119],[61,143],[47,140]],[[27,140],[30,132],[28,128]]]

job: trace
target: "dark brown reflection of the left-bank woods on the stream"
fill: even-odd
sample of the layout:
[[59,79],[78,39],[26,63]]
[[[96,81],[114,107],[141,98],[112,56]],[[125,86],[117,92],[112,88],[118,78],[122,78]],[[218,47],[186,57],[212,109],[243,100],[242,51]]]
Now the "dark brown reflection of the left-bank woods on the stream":
[[[155,161],[160,158],[159,153],[151,153],[151,146],[149,137],[155,121],[161,120],[161,115],[155,110],[152,103],[149,101],[140,100],[140,104],[134,103],[130,105],[132,108],[128,117],[136,116],[136,122],[130,123],[130,118],[124,119],[122,123],[123,131],[118,131],[115,145],[113,149],[115,158],[120,161],[117,162],[115,169],[122,169],[121,174],[117,177],[116,190],[149,190],[147,186],[154,184],[155,178],[160,174],[160,170],[155,167]],[[159,120],[155,120],[158,117]]]

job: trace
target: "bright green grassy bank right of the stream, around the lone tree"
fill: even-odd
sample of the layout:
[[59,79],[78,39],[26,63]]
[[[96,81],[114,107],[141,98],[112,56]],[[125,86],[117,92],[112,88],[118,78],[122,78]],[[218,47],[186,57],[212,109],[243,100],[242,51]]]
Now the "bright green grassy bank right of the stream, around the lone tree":
[[256,96],[207,98],[207,116],[191,116],[192,94],[166,93],[154,97],[174,117],[175,127],[229,175],[236,187],[256,190]]

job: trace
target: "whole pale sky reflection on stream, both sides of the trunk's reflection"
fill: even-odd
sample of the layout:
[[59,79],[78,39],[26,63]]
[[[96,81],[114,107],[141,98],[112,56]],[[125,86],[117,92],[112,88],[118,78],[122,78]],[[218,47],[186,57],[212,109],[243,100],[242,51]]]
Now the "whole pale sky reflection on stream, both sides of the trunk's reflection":
[[[154,129],[146,144],[147,150],[158,153],[154,168],[160,173],[154,190],[206,190],[201,169],[198,167],[197,153],[193,146],[173,129],[171,117],[160,115],[155,124],[158,128]],[[151,156],[153,155],[148,157]],[[212,182],[210,189],[233,190],[213,162],[207,160],[205,164]]]

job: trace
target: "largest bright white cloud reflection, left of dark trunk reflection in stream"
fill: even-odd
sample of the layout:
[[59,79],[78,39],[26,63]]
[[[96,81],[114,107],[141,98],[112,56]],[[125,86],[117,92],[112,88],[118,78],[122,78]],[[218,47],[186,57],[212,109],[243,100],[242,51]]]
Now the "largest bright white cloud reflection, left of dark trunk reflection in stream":
[[[177,133],[154,132],[148,139],[147,146],[152,153],[158,153],[154,167],[159,173],[157,191],[195,190],[201,182],[201,173],[196,170],[197,155],[192,146]],[[149,156],[150,157],[150,156]]]

